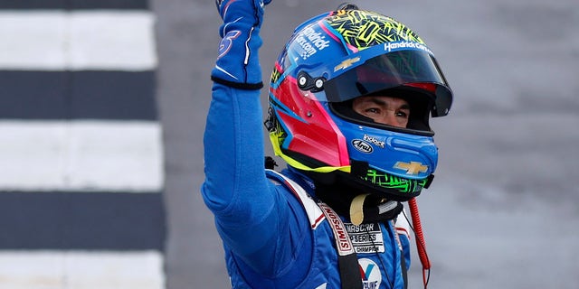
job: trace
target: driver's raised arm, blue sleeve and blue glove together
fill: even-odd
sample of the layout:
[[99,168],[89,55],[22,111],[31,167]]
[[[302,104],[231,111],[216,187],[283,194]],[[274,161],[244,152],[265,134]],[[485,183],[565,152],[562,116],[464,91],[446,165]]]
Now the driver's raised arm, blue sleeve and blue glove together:
[[[291,264],[296,240],[306,232],[300,229],[302,217],[288,206],[287,194],[278,192],[264,169],[260,90],[255,89],[261,82],[262,5],[260,0],[218,5],[223,40],[212,71],[201,191],[224,246],[256,272],[275,275]],[[251,18],[252,9],[258,18]]]

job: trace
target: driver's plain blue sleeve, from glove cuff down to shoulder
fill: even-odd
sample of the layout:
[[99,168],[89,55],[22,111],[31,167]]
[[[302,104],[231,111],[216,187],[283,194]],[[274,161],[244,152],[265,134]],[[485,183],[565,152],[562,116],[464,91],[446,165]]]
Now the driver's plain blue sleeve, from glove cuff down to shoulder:
[[[295,266],[310,231],[299,200],[267,179],[261,134],[259,91],[214,84],[202,195],[224,245],[253,271],[274,276]],[[308,264],[303,257],[298,262]],[[292,270],[297,276],[307,268]]]

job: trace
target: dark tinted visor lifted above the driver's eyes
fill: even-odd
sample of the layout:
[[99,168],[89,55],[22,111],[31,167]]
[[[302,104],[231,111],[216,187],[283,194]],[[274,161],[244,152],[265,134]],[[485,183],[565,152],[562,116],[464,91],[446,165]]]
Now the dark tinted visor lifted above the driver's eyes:
[[451,91],[434,57],[427,51],[384,53],[324,83],[326,98],[342,102],[408,83],[434,83],[434,116],[444,116],[451,105]]

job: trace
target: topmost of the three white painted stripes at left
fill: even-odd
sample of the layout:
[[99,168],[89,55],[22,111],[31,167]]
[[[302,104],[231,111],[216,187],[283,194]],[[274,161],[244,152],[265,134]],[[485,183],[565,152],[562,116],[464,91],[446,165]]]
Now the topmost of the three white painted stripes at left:
[[2,11],[0,70],[153,70],[148,11]]

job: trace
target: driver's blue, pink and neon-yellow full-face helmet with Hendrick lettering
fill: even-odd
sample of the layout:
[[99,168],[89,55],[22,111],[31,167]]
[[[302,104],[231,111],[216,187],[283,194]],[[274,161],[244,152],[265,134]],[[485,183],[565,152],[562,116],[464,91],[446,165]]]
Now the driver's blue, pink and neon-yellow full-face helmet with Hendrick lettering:
[[[405,99],[408,126],[354,112],[354,98],[375,94]],[[289,166],[409,200],[430,184],[438,161],[429,117],[446,116],[451,102],[451,88],[416,33],[348,6],[296,28],[271,74],[265,124]]]

